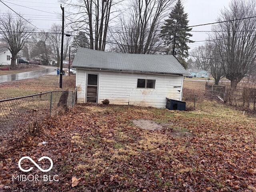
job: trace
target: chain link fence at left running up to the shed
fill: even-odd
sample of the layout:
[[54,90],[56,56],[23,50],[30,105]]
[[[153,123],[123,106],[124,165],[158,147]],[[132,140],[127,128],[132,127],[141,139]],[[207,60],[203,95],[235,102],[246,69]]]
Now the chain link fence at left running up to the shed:
[[36,124],[73,108],[75,91],[51,91],[0,100],[0,143],[14,134],[33,132]]

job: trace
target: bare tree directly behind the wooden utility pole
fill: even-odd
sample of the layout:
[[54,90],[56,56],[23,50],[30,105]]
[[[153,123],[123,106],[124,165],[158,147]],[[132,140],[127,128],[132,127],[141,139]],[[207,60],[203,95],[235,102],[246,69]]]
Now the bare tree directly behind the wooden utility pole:
[[[54,58],[57,60],[57,65],[60,64],[60,54],[61,54],[61,25],[53,24],[51,27],[50,36],[50,46],[54,54]],[[64,36],[64,46],[63,46],[63,59],[66,59],[68,54],[68,46],[70,45],[71,38]]]

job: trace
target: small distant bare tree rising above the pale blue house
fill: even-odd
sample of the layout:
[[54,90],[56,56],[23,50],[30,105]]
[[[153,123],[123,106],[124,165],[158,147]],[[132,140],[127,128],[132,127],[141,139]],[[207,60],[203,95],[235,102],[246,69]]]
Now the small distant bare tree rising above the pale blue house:
[[209,70],[211,62],[209,53],[209,47],[207,47],[206,45],[199,46],[192,50],[191,55],[194,59],[197,69],[202,69],[206,71]]

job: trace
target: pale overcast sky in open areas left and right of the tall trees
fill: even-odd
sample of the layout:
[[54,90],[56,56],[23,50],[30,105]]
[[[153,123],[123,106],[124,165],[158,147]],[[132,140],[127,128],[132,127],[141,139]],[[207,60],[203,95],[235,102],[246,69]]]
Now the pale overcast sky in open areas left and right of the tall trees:
[[[33,21],[33,24],[38,28],[49,29],[51,24],[56,22],[61,24],[60,17],[60,4],[58,0],[3,0],[8,6],[10,6],[16,12],[20,12],[24,15],[25,18],[30,18]],[[215,22],[220,10],[224,6],[228,6],[230,0],[184,0],[184,7],[188,13],[189,25],[197,25],[204,23]],[[12,3],[12,4],[11,4]],[[29,8],[17,6],[14,4],[28,6],[30,8],[43,10],[32,10]],[[0,5],[0,13],[8,10],[4,4]],[[50,13],[48,13],[50,12]],[[193,30],[196,31],[207,31],[211,30],[211,25],[208,26],[199,26],[194,27]],[[192,32],[193,37],[191,38],[194,41],[205,40],[207,37],[206,32]],[[203,42],[190,44],[190,48],[194,48],[203,44]]]

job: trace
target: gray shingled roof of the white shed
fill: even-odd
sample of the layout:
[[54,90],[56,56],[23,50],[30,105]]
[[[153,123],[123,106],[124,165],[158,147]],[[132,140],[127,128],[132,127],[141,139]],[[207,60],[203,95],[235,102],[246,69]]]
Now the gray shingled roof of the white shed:
[[73,68],[159,74],[189,74],[172,55],[122,54],[78,48]]

